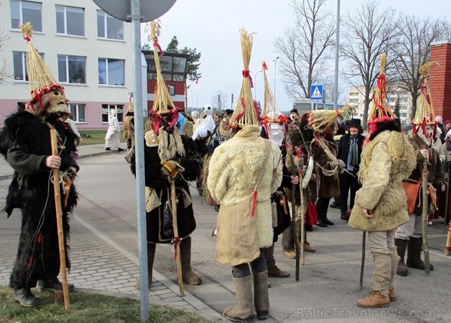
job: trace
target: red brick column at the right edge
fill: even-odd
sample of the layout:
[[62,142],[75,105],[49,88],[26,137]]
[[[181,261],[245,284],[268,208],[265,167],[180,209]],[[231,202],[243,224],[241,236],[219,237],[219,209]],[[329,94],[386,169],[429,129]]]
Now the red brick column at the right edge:
[[451,43],[432,43],[431,61],[439,63],[431,66],[429,75],[435,115],[441,115],[443,121],[451,120]]

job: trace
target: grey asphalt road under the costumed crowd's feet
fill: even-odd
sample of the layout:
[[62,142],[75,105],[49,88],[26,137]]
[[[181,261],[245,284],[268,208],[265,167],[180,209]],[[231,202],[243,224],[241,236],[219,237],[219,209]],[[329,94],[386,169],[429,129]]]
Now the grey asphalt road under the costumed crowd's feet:
[[[132,253],[137,253],[135,231],[113,229],[106,219],[113,219],[124,228],[136,228],[135,179],[131,176],[123,157],[107,155],[80,161],[82,172],[78,183],[82,199],[77,215],[103,231],[115,242]],[[215,262],[215,241],[211,231],[215,227],[217,213],[200,195],[191,190],[197,229],[193,233],[193,267],[204,280],[201,286],[186,286],[186,290],[200,298],[215,311],[233,304],[231,269]],[[104,210],[103,216],[90,210]],[[306,255],[306,264],[300,271],[300,282],[294,280],[294,260],[282,255],[280,244],[276,244],[278,266],[291,272],[287,279],[270,278],[269,290],[271,317],[267,322],[299,322],[311,316],[314,322],[334,319],[334,322],[361,322],[362,315],[378,322],[383,315],[395,315],[391,322],[436,322],[450,321],[448,304],[443,302],[448,295],[448,277],[451,274],[450,257],[445,257],[443,247],[446,235],[441,233],[443,221],[436,220],[430,227],[430,258],[436,270],[429,276],[422,271],[411,270],[408,277],[399,277],[399,301],[390,306],[390,311],[361,310],[355,303],[370,291],[372,280],[372,256],[367,251],[364,290],[358,290],[358,275],[361,264],[360,231],[349,228],[339,219],[339,212],[329,211],[329,219],[336,223],[328,228],[314,228],[308,233],[309,242],[316,253]],[[157,271],[175,282],[175,263],[169,246],[158,246],[155,260]],[[428,312],[433,311],[433,312]],[[360,315],[359,317],[357,315]],[[425,319],[425,316],[432,318]],[[331,317],[332,316],[332,317]],[[328,317],[331,317],[328,320]],[[331,321],[329,321],[331,322]]]

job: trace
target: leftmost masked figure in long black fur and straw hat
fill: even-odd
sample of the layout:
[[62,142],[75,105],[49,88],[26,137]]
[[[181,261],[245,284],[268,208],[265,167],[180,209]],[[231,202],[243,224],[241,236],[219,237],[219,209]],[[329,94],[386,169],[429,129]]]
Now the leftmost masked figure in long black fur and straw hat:
[[[17,258],[10,277],[13,297],[22,306],[39,305],[30,291],[38,285],[40,291],[62,291],[58,280],[60,269],[59,240],[52,169],[59,170],[62,179],[61,206],[66,267],[70,269],[68,213],[77,204],[77,192],[72,182],[79,167],[73,159],[78,137],[61,120],[69,113],[64,88],[57,84],[44,61],[30,42],[30,23],[21,26],[28,42],[28,72],[31,99],[25,110],[6,118],[0,133],[0,153],[15,170],[3,211],[11,215],[14,208],[22,213],[21,234]],[[59,156],[52,155],[50,130],[57,130]],[[68,284],[73,291],[73,284]]]

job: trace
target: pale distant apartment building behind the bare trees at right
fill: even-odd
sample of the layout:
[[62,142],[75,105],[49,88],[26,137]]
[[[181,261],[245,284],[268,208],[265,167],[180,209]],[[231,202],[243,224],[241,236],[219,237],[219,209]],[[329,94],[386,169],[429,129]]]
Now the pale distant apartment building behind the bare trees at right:
[[[351,86],[349,87],[348,104],[354,109],[354,117],[363,118],[363,108],[365,102],[365,87],[364,86]],[[372,93],[370,94],[370,98]],[[410,92],[403,90],[402,88],[391,86],[387,88],[388,104],[392,110],[395,110],[396,102],[399,102],[399,117],[402,124],[409,124],[408,116],[410,110],[412,110],[412,95]],[[371,103],[370,103],[371,105]]]

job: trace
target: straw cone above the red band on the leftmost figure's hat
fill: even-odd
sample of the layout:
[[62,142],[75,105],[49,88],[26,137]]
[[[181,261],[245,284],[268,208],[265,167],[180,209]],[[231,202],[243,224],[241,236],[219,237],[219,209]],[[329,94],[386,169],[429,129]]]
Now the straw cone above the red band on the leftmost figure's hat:
[[46,63],[44,63],[44,60],[37,52],[35,46],[31,43],[32,33],[35,31],[32,29],[31,24],[28,22],[23,25],[19,25],[19,28],[22,32],[23,39],[26,40],[28,46],[27,69],[31,101],[32,99],[35,99],[36,95],[39,95],[42,90],[50,90],[51,86],[56,85],[58,82],[46,66]]

